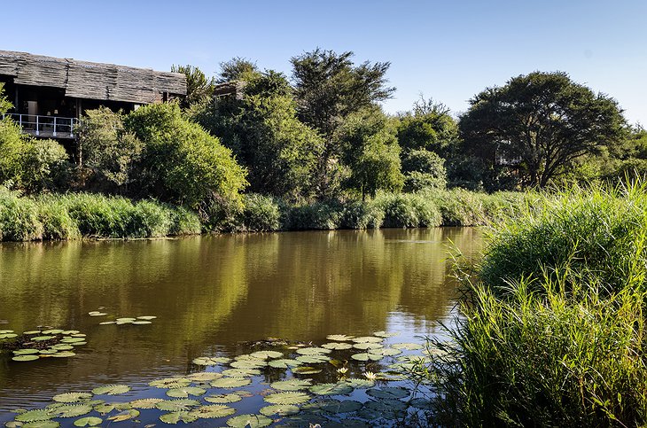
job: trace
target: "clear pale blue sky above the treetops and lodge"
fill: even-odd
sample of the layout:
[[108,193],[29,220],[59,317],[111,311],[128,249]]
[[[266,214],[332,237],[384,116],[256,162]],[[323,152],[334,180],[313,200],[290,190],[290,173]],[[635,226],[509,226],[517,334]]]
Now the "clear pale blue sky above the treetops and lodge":
[[387,112],[454,113],[488,86],[564,71],[647,126],[647,0],[3,1],[0,49],[216,74],[233,57],[290,74],[316,47],[388,61]]

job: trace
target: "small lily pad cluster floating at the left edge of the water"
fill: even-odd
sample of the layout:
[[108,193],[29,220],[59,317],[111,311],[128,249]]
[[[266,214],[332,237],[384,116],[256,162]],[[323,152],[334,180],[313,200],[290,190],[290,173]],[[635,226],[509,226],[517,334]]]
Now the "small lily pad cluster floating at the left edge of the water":
[[87,344],[85,334],[78,330],[45,329],[16,333],[0,330],[0,348],[12,351],[12,360],[30,362],[41,358],[74,356],[74,346]]

